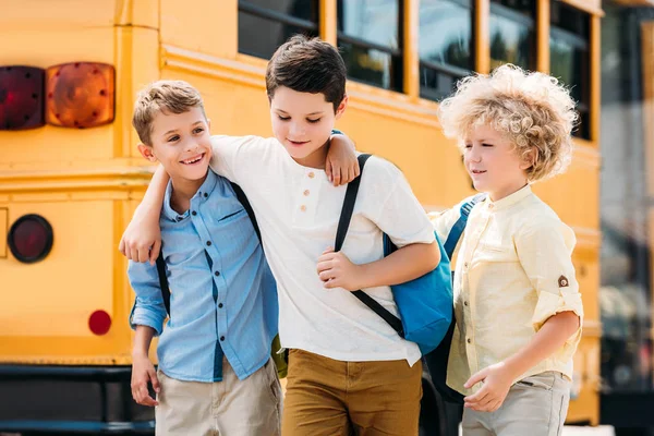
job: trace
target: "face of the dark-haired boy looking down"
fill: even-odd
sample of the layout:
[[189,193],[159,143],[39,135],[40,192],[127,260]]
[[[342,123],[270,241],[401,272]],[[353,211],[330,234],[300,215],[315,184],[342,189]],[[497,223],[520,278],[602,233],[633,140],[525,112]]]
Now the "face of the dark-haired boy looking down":
[[346,110],[343,98],[334,113],[334,105],[322,93],[300,93],[280,86],[270,99],[270,119],[275,137],[300,165],[325,168],[327,149],[334,123]]

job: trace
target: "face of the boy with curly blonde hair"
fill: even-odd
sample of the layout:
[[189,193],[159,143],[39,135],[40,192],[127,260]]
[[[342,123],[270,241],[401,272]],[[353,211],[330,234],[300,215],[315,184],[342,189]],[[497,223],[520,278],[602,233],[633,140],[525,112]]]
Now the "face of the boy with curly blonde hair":
[[521,159],[516,146],[488,125],[471,129],[464,138],[463,161],[475,190],[497,202],[523,187],[531,164]]

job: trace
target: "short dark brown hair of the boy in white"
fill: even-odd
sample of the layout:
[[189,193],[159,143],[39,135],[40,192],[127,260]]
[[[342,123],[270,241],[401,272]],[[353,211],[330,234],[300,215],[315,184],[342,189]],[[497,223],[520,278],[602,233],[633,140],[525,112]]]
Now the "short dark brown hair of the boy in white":
[[266,90],[270,99],[280,86],[299,93],[322,93],[336,112],[346,96],[346,63],[334,46],[320,38],[295,35],[270,58]]

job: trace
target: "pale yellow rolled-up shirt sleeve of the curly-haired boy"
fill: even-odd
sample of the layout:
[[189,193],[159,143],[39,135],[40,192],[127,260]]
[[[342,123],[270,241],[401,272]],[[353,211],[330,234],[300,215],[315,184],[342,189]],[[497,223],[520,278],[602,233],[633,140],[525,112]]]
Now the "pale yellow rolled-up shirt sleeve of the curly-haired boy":
[[580,317],[580,327],[568,339],[568,344],[576,344],[581,337],[583,305],[571,258],[574,232],[560,221],[537,220],[521,229],[514,243],[538,299],[532,317],[534,329],[540,330],[558,313],[573,312]]

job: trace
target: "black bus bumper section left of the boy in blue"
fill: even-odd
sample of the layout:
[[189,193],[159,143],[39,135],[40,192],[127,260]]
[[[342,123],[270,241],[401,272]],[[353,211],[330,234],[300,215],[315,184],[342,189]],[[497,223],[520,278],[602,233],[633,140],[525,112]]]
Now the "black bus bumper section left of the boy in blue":
[[0,365],[0,432],[154,435],[130,366]]

